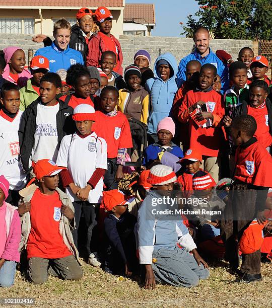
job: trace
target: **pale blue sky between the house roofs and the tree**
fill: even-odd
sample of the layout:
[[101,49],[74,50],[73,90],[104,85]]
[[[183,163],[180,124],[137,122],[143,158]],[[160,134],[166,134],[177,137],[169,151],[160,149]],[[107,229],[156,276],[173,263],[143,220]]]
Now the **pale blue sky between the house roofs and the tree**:
[[155,5],[156,27],[152,36],[181,37],[180,22],[185,25],[188,15],[198,11],[195,0],[125,0],[125,3],[152,3]]

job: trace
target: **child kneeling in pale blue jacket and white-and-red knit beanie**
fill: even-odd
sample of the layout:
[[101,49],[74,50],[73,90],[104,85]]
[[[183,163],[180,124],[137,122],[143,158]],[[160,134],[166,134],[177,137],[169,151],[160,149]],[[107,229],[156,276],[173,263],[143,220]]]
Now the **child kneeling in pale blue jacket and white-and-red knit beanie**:
[[152,167],[148,182],[153,188],[138,211],[140,264],[145,265],[145,288],[148,289],[154,289],[155,281],[191,287],[210,274],[208,264],[197,253],[196,245],[180,215],[157,213],[157,210],[175,210],[164,199],[171,196],[176,179],[172,168],[164,165]]

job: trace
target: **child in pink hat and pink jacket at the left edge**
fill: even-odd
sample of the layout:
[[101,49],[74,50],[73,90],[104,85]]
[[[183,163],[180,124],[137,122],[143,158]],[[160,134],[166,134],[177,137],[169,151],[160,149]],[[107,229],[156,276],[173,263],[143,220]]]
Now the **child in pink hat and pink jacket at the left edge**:
[[0,286],[14,284],[16,262],[20,261],[21,225],[17,207],[5,202],[9,196],[9,182],[0,176]]

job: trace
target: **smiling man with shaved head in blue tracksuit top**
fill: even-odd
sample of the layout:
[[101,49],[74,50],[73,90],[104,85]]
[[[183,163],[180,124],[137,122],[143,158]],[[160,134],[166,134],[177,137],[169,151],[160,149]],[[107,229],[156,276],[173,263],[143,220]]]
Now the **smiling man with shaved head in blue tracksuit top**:
[[177,73],[177,84],[180,87],[185,81],[186,64],[191,60],[197,60],[201,65],[210,63],[216,66],[217,73],[221,78],[221,93],[229,89],[229,71],[227,64],[224,64],[209,47],[210,32],[207,28],[198,28],[193,34],[195,50],[180,60]]

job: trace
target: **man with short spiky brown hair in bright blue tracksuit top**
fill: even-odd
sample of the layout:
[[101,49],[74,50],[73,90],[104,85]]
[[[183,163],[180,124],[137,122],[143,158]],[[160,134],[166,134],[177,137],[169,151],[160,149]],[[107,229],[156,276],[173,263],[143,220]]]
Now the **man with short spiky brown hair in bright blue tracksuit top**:
[[51,72],[60,68],[68,69],[71,65],[80,63],[84,65],[82,54],[69,47],[71,25],[65,19],[60,19],[54,24],[54,41],[51,46],[38,49],[34,56],[42,55],[49,60]]

